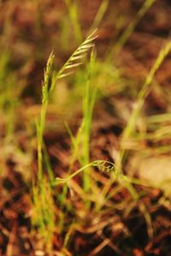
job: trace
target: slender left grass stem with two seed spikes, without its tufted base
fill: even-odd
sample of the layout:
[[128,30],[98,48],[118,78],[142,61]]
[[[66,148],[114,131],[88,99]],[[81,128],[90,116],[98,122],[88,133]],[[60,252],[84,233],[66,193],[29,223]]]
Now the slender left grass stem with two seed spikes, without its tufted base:
[[[81,64],[81,59],[85,57],[85,54],[93,46],[93,40],[96,39],[94,33],[91,33],[85,41],[74,51],[71,57],[68,58],[68,61],[63,65],[60,71],[56,74],[52,74],[52,65],[54,60],[54,55],[51,53],[47,62],[46,70],[44,72],[44,84],[42,86],[42,108],[40,113],[39,122],[37,122],[37,133],[38,133],[38,177],[41,181],[42,178],[42,147],[43,147],[43,135],[45,128],[45,117],[46,111],[50,100],[50,93],[53,92],[56,81],[73,74],[73,71],[68,71],[72,68],[78,67]],[[50,80],[51,79],[51,80]]]

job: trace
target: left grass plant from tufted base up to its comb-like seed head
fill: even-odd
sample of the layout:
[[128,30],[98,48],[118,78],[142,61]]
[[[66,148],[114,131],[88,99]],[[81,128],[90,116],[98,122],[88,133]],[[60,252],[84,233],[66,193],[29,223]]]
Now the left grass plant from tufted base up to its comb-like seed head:
[[[34,212],[34,214],[32,214],[32,223],[34,226],[37,226],[40,235],[44,234],[44,244],[48,251],[51,249],[52,236],[55,231],[55,204],[53,199],[53,187],[51,186],[53,172],[50,169],[50,162],[44,146],[44,129],[47,108],[50,101],[50,94],[56,86],[56,81],[73,73],[73,71],[68,70],[80,66],[82,63],[81,59],[85,57],[87,51],[93,47],[93,40],[96,38],[94,33],[91,33],[91,35],[85,39],[57,73],[53,71],[53,61],[55,56],[51,53],[44,71],[42,107],[40,117],[36,122],[38,140],[38,181],[34,181],[32,186]],[[44,155],[43,152],[45,152]],[[43,162],[45,162],[48,170],[46,176],[43,174]]]

